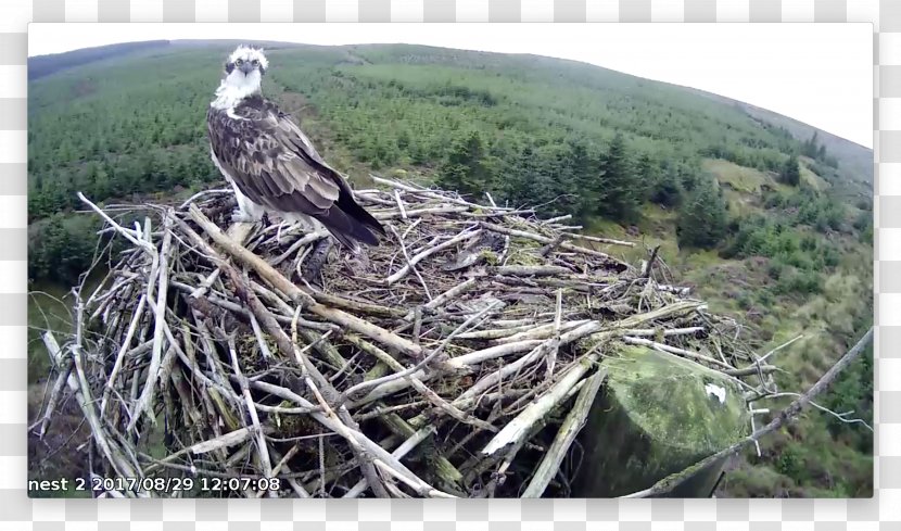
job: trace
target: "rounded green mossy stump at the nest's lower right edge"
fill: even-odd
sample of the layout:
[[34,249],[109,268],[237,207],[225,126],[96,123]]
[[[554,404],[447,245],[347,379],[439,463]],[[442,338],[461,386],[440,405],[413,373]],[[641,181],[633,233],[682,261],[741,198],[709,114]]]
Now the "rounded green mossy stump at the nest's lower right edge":
[[[646,489],[750,431],[741,389],[720,372],[642,346],[621,346],[602,365],[608,381],[583,431],[581,495]],[[722,402],[709,385],[725,392]],[[680,494],[709,494],[721,467],[698,470]]]

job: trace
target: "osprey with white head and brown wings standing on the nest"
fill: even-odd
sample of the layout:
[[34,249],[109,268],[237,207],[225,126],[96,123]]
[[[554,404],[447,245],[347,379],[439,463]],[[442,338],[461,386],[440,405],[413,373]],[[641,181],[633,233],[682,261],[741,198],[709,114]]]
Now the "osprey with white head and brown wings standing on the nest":
[[213,162],[238,200],[232,219],[255,223],[268,212],[308,229],[321,224],[355,253],[359,242],[378,245],[381,224],[301,128],[263,97],[268,66],[262,50],[239,46],[206,113]]

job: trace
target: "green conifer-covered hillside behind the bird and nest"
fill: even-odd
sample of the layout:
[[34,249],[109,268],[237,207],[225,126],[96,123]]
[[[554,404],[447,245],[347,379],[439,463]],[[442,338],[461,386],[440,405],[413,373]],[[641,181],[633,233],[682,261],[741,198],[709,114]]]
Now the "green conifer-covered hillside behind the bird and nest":
[[[96,238],[85,236],[98,224],[74,212],[77,191],[129,202],[220,181],[204,116],[228,51],[173,43],[29,83],[36,285],[74,282],[90,264]],[[264,90],[352,180],[367,185],[375,172],[490,191],[547,217],[572,214],[588,232],[661,244],[673,282],[745,323],[760,354],[805,336],[775,354],[782,389],[812,383],[872,324],[872,180],[856,144],[723,98],[534,55],[399,45],[267,55]],[[872,389],[865,356],[822,405],[871,422]],[[782,405],[771,402],[756,406]],[[762,443],[761,457],[748,454],[723,489],[870,495],[872,443],[860,423],[813,412]]]

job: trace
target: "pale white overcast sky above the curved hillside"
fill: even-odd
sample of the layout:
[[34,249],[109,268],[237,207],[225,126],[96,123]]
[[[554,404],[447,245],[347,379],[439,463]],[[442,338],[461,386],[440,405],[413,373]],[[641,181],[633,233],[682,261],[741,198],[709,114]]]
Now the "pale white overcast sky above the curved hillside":
[[572,59],[734,98],[873,146],[871,24],[30,24],[28,55],[153,39],[406,42]]

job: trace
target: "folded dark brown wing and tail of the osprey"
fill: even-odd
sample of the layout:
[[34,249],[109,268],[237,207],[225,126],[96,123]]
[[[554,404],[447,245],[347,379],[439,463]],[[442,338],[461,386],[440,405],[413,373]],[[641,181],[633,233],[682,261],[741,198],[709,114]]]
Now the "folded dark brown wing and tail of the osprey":
[[219,164],[254,203],[314,217],[352,248],[348,239],[376,245],[373,231],[384,235],[344,177],[274,103],[253,97],[231,112],[211,108],[207,126]]

